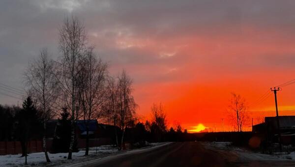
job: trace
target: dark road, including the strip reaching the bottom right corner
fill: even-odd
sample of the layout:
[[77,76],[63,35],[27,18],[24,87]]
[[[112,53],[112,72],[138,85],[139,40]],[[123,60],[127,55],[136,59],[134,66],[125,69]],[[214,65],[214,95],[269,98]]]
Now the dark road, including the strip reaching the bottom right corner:
[[174,142],[130,154],[85,162],[84,167],[295,167],[295,161],[241,161],[226,150],[205,149],[200,142]]

